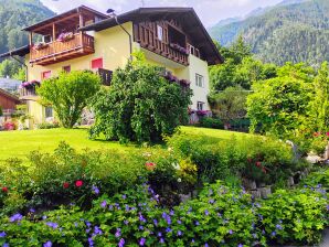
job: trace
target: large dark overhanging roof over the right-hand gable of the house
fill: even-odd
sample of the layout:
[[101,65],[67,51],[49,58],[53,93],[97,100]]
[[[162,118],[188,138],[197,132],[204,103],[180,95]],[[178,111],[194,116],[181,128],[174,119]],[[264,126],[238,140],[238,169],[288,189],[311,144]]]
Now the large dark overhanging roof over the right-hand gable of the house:
[[[156,21],[161,19],[178,19],[185,28],[185,32],[200,46],[210,65],[223,63],[211,36],[199,19],[193,8],[139,8],[117,15],[119,23],[128,21]],[[115,18],[108,18],[97,23],[82,28],[82,31],[102,31],[117,25]]]

